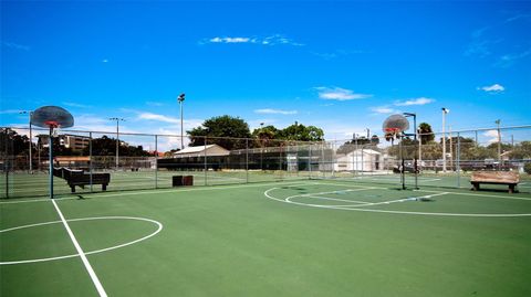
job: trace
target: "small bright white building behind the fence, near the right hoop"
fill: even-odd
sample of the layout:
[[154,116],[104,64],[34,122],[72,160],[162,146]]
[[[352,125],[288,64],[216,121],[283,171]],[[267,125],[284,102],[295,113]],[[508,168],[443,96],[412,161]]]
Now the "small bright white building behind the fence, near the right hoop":
[[357,149],[348,153],[337,153],[334,171],[377,171],[382,170],[382,152],[373,149]]

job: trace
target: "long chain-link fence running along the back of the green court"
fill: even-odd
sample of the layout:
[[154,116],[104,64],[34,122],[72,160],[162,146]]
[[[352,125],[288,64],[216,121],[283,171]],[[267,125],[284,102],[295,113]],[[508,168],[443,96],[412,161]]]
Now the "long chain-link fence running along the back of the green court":
[[[48,130],[33,128],[31,142],[27,128],[0,135],[0,198],[46,195]],[[174,135],[61,131],[52,142],[55,193],[173,188],[180,177],[194,185],[337,179],[470,188],[470,173],[488,170],[518,172],[519,191],[531,192],[531,126],[419,135],[420,141],[185,139],[187,146]]]

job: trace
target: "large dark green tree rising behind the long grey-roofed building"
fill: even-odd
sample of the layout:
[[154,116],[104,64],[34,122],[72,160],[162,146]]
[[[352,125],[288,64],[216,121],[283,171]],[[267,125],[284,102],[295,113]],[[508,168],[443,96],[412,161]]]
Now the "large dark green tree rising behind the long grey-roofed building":
[[228,115],[209,118],[201,127],[187,132],[190,137],[190,147],[204,146],[207,137],[207,145],[216,144],[228,150],[244,149],[247,141],[241,138],[251,137],[249,125],[243,119]]

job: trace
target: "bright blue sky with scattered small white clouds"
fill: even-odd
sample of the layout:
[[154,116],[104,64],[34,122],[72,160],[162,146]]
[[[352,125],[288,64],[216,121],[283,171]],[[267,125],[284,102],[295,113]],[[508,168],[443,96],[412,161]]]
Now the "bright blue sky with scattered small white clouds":
[[1,120],[60,105],[76,128],[381,132],[414,112],[440,130],[531,124],[531,2],[1,2]]

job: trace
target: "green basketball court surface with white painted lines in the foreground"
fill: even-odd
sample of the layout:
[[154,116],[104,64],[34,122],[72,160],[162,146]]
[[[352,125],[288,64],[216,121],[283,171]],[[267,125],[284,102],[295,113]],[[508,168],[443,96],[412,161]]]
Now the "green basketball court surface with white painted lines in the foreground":
[[1,296],[531,296],[528,192],[293,180],[1,200],[0,220]]

